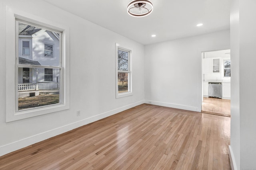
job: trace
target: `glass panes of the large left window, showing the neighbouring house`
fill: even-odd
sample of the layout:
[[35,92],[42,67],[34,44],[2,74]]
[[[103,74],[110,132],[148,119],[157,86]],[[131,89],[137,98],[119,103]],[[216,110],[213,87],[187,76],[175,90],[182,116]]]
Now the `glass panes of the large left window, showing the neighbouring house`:
[[[16,55],[19,59],[16,63],[16,72],[18,72],[20,68],[23,70],[23,83],[19,83],[19,75],[16,81],[16,86],[18,87],[16,111],[56,105],[62,102],[60,83],[62,82],[63,67],[61,56],[55,56],[54,59],[45,59],[40,55],[41,51],[44,50],[44,56],[52,57],[52,47],[54,45],[56,50],[61,51],[60,41],[62,33],[58,32],[57,34],[60,38],[51,39],[54,35],[53,32],[57,30],[53,31],[51,28],[35,25],[26,23],[26,21],[23,20],[16,20],[16,41],[19,43],[22,42],[22,44],[18,45],[19,47],[22,46],[22,56]],[[27,48],[28,52],[30,51],[29,41],[20,41],[20,38],[24,36],[32,37],[32,47],[34,46],[34,48],[32,48],[32,58],[24,56],[24,53],[27,54]],[[45,40],[51,41],[52,45],[43,43]],[[40,46],[40,44],[42,45]],[[58,54],[60,54],[60,52]],[[30,70],[32,71],[31,73]],[[42,74],[41,72],[44,72],[44,77],[40,76],[40,74]],[[59,81],[54,82],[53,76],[58,76]]]

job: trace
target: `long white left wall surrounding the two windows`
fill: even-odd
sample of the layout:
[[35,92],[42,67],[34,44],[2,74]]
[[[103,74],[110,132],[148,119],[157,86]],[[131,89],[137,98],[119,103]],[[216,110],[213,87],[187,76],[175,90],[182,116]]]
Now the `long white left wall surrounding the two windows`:
[[[70,27],[70,109],[6,123],[6,5]],[[47,9],[47,12],[45,12]],[[42,0],[0,1],[0,155],[144,103],[144,46]],[[115,43],[132,50],[133,95],[116,99]],[[80,110],[81,115],[76,116]]]

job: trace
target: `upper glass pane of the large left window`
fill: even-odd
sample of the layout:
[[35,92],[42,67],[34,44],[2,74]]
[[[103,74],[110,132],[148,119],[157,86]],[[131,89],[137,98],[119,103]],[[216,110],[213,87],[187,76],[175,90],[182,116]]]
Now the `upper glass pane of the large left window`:
[[[21,22],[17,26],[17,42],[21,52],[18,56],[19,64],[60,66],[60,33]],[[45,31],[40,31],[42,29]],[[29,38],[24,38],[24,35],[28,35]],[[51,59],[45,59],[44,57],[51,57]]]

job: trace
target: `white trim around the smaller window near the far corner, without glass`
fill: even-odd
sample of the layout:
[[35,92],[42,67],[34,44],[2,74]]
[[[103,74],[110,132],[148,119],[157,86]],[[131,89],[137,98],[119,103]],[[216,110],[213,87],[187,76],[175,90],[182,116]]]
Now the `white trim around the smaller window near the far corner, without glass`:
[[[129,77],[128,77],[128,92],[123,92],[123,93],[118,93],[118,72],[127,72],[127,71],[118,71],[118,49],[127,51],[129,53],[128,56],[128,72],[129,72]],[[116,43],[116,98],[122,98],[126,96],[131,96],[132,93],[132,50],[126,49],[123,47],[120,47],[118,43]]]

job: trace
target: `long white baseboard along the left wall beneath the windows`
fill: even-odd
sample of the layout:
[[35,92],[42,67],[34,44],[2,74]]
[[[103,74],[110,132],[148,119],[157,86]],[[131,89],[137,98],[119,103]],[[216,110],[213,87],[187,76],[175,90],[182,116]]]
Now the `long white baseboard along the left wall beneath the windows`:
[[141,101],[133,103],[133,104],[129,104],[129,105],[126,105],[126,106],[123,106],[123,107],[119,107],[117,109],[113,109],[113,110],[110,110],[110,111],[107,111],[107,112],[104,112],[104,113],[100,113],[98,115],[95,115],[95,116],[92,116],[92,117],[88,117],[86,119],[82,119],[80,121],[76,121],[74,123],[70,123],[68,125],[64,125],[62,127],[58,127],[56,129],[52,129],[50,131],[39,133],[39,134],[30,136],[30,137],[21,139],[19,141],[15,141],[13,143],[9,143],[7,145],[4,145],[4,146],[0,147],[0,156],[3,156],[5,154],[8,154],[8,153],[13,152],[15,150],[22,149],[24,147],[30,146],[30,145],[38,143],[40,141],[44,141],[44,140],[49,139],[51,137],[54,137],[56,135],[60,135],[62,133],[70,131],[72,129],[81,127],[83,125],[87,125],[87,124],[92,123],[94,121],[103,119],[105,117],[114,115],[116,113],[119,113],[121,111],[130,109],[132,107],[135,107],[135,106],[138,106],[138,105],[144,104],[144,103],[145,103],[145,101],[141,100]]

